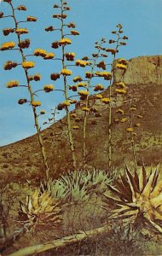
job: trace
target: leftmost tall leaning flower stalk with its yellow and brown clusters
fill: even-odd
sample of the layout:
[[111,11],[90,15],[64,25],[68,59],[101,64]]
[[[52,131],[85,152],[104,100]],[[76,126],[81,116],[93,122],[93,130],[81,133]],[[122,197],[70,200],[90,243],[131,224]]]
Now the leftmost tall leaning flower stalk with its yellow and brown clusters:
[[[17,63],[16,61],[7,61],[6,63],[4,63],[4,70],[11,70],[14,67],[17,66],[21,66],[24,70],[24,74],[25,74],[25,78],[26,78],[26,84],[20,84],[19,81],[17,80],[10,80],[7,84],[6,87],[7,88],[14,88],[14,87],[20,87],[20,86],[24,86],[26,87],[29,96],[30,96],[30,100],[27,101],[27,99],[20,99],[18,101],[18,103],[20,105],[26,103],[26,102],[30,102],[30,105],[32,107],[32,112],[33,112],[33,116],[34,116],[34,122],[35,122],[35,127],[37,129],[37,134],[38,134],[38,142],[40,145],[40,149],[41,149],[41,154],[42,154],[42,158],[43,158],[43,165],[45,168],[45,176],[46,179],[49,178],[49,165],[48,165],[48,160],[47,160],[47,154],[45,152],[45,148],[43,145],[43,138],[40,132],[40,126],[38,123],[38,112],[37,112],[37,108],[41,106],[41,102],[40,101],[36,101],[35,100],[35,92],[32,90],[32,81],[40,81],[41,79],[41,75],[40,74],[33,74],[32,76],[29,75],[29,69],[32,69],[32,67],[35,67],[35,62],[34,61],[28,61],[27,57],[31,56],[31,55],[26,55],[25,54],[25,49],[28,49],[30,47],[31,41],[30,39],[26,38],[24,40],[21,39],[21,36],[24,34],[28,33],[28,29],[24,28],[24,27],[20,27],[20,24],[23,23],[28,23],[28,22],[36,22],[37,18],[33,17],[33,16],[27,16],[26,20],[16,20],[16,12],[17,11],[26,11],[26,6],[25,5],[19,5],[16,8],[14,8],[14,5],[12,3],[12,0],[4,0],[3,2],[9,3],[10,9],[11,9],[11,15],[7,15],[5,16],[3,13],[0,13],[0,18],[9,18],[11,17],[14,20],[14,27],[12,28],[5,28],[3,29],[3,35],[6,37],[8,36],[10,33],[15,33],[16,37],[17,37],[17,47],[16,47],[16,43],[14,42],[5,42],[1,45],[1,51],[5,51],[5,50],[18,50],[20,52],[20,57],[21,57],[21,63]],[[35,49],[33,52],[33,55],[35,56],[40,56],[42,57],[44,60],[50,60],[53,59],[55,57],[55,55],[53,53],[47,52],[44,49]],[[43,91],[44,92],[50,92],[54,90],[54,86],[52,84],[46,84],[43,86]],[[41,113],[41,112],[40,112]],[[41,113],[42,114],[42,113]]]

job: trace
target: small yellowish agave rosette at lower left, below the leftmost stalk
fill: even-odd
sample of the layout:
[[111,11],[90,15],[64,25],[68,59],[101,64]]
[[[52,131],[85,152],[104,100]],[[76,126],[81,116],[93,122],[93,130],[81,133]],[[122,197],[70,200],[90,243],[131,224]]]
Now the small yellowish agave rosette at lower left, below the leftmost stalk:
[[27,195],[26,203],[20,202],[20,219],[35,222],[61,223],[60,201],[55,200],[48,191],[36,189],[32,195]]

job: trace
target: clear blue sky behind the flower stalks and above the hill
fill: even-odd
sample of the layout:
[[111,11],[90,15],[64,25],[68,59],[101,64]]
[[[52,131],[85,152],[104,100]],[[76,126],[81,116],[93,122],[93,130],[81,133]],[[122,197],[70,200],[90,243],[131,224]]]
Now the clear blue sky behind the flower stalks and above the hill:
[[[17,20],[26,20],[27,15],[35,16],[38,21],[20,23],[20,27],[26,27],[29,34],[22,35],[21,38],[30,38],[30,49],[26,49],[26,55],[32,54],[36,48],[43,48],[55,53],[59,57],[59,50],[52,49],[51,43],[60,39],[60,32],[45,32],[47,26],[59,28],[59,20],[52,18],[58,13],[54,9],[54,4],[59,4],[59,0],[12,0],[14,7],[26,5],[27,11],[16,11]],[[67,21],[76,24],[75,30],[80,35],[72,38],[72,45],[67,51],[75,52],[77,59],[84,55],[91,55],[95,52],[94,43],[100,38],[112,38],[111,31],[115,30],[118,23],[123,25],[124,35],[129,37],[128,44],[120,49],[119,57],[130,59],[141,55],[161,55],[162,54],[162,0],[69,0],[67,1],[71,11],[68,12]],[[0,12],[10,15],[8,3],[0,2]],[[11,18],[0,19],[0,45],[7,41],[16,42],[14,33],[8,37],[3,36],[2,29],[14,27]],[[112,46],[111,46],[112,48]],[[29,104],[19,105],[20,98],[29,99],[25,87],[7,89],[5,84],[9,80],[16,79],[20,84],[26,84],[24,72],[20,66],[11,71],[5,71],[3,64],[6,61],[17,61],[20,63],[20,53],[16,50],[0,51],[0,146],[14,143],[25,137],[36,133],[32,108]],[[43,61],[40,57],[28,57],[28,61],[35,61],[36,67],[30,70],[30,74],[41,73],[40,82],[33,82],[32,89],[40,90],[44,84],[54,84],[55,89],[61,88],[61,81],[51,81],[50,73],[57,73],[61,70],[59,61]],[[83,71],[76,71],[72,67],[72,72],[76,75]],[[85,72],[85,70],[84,70]],[[55,83],[53,83],[55,82]],[[41,129],[48,125],[43,125],[51,117],[51,109],[55,108],[59,102],[63,101],[61,92],[38,93],[37,100],[42,102],[40,110],[47,111],[43,117],[39,117]],[[39,110],[38,110],[39,111]],[[65,113],[57,114],[57,119],[61,119]]]

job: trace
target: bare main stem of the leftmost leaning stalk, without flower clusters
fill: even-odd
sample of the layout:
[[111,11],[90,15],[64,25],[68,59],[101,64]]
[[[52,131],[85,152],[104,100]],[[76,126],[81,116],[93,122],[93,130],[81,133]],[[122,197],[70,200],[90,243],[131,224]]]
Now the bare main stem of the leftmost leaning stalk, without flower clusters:
[[[12,17],[14,19],[15,28],[17,29],[18,28],[18,22],[15,18],[15,15],[14,15],[14,7],[13,7],[12,3],[9,3],[9,4],[10,4],[11,9],[12,9]],[[19,45],[20,45],[20,35],[19,34],[17,34],[17,38],[18,38]],[[20,47],[20,55],[21,55],[22,61],[26,61],[26,57],[25,57],[21,47]],[[29,91],[29,94],[30,94],[30,97],[31,97],[31,102],[33,102],[34,101],[34,94],[32,92],[32,86],[30,84],[27,69],[24,68],[24,71],[25,71],[25,75],[26,75],[27,88],[28,88],[28,91]],[[48,160],[47,160],[47,155],[46,155],[46,152],[45,152],[45,148],[44,148],[44,145],[43,145],[43,137],[41,135],[40,127],[39,127],[39,124],[38,124],[38,114],[37,114],[37,111],[36,111],[36,107],[32,106],[32,112],[33,112],[33,115],[34,115],[34,122],[35,122],[35,126],[36,126],[36,129],[37,129],[38,142],[39,142],[39,145],[40,145],[40,148],[41,148],[41,154],[42,154],[42,158],[43,158],[43,165],[44,165],[44,168],[45,168],[45,176],[46,176],[46,179],[48,180],[49,179],[49,165],[48,165]]]

